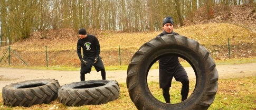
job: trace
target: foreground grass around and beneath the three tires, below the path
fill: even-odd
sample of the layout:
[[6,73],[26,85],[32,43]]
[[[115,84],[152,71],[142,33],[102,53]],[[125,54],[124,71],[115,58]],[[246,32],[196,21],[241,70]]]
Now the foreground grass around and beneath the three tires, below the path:
[[[216,93],[215,100],[208,109],[256,109],[256,76],[235,79],[220,79],[219,89]],[[191,81],[190,83],[195,83]],[[0,109],[137,109],[131,102],[126,83],[120,83],[120,96],[118,100],[108,102],[101,105],[84,105],[78,107],[65,106],[58,100],[50,104],[34,105],[31,107],[9,107],[3,103],[2,94],[0,97]],[[149,82],[149,89],[159,101],[164,101],[162,90],[159,89],[157,82]],[[170,89],[172,103],[179,103],[181,84],[173,83]],[[190,87],[189,94],[193,91]]]

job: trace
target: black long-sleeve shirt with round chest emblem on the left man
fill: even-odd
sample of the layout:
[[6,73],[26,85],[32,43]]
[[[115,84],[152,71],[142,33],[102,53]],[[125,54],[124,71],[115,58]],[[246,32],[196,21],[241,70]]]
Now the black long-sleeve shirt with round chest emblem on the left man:
[[[81,48],[83,49],[83,57],[81,54]],[[77,53],[80,60],[83,58],[94,60],[95,57],[99,57],[100,43],[96,36],[87,35],[84,39],[78,39]]]

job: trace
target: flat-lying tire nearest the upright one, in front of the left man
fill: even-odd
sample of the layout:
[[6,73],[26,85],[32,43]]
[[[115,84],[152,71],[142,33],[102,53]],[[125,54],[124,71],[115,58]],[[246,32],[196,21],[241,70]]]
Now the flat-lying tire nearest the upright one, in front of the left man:
[[68,106],[98,105],[118,99],[120,88],[116,81],[89,80],[65,84],[58,98]]

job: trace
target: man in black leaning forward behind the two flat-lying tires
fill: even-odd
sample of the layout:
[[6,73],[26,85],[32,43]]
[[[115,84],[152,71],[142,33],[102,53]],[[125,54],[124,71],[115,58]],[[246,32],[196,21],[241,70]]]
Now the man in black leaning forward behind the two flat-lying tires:
[[[92,65],[97,72],[101,71],[102,80],[106,80],[106,71],[100,55],[100,43],[97,37],[87,34],[86,29],[78,31],[80,39],[77,42],[77,53],[81,61],[80,79],[85,80],[85,74],[91,72]],[[83,49],[83,56],[81,54]]]

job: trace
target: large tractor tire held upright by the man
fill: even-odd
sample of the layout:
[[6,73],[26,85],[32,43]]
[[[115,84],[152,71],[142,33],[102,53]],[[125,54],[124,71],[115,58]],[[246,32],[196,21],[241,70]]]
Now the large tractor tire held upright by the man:
[[[173,55],[191,64],[196,85],[187,100],[166,104],[157,100],[147,85],[148,70],[159,58]],[[156,37],[141,46],[134,54],[127,70],[127,88],[138,109],[207,109],[214,101],[219,75],[209,52],[197,41],[179,35]]]

